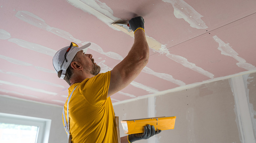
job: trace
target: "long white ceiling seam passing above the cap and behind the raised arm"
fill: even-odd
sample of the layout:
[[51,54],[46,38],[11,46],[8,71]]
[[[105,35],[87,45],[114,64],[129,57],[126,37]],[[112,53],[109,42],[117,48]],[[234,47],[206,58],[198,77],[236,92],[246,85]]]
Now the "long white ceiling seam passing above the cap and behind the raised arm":
[[[36,26],[38,28],[41,28],[43,30],[46,30],[46,31],[49,31],[49,29],[52,28],[51,26],[46,24],[43,19],[39,18],[38,16],[34,15],[33,13],[31,13],[29,11],[18,11],[15,14],[15,16],[17,18],[19,18],[20,20],[28,23],[28,24],[32,24],[32,25],[34,25],[34,26]],[[64,30],[61,30],[61,29],[59,29],[59,31],[62,31],[63,33],[68,33],[68,32],[66,32]],[[53,34],[56,34],[56,33],[53,32]],[[58,36],[60,36],[60,37],[62,37],[64,39],[70,40],[70,41],[74,40],[74,41],[76,41],[76,43],[81,43],[82,42],[81,40],[75,39],[71,34],[64,34],[64,35],[63,34],[59,34]],[[81,44],[84,45],[86,43],[88,43],[88,42],[82,42]],[[94,51],[96,51],[96,52],[98,52],[100,54],[106,55],[106,56],[108,56],[110,58],[117,59],[117,60],[123,60],[123,57],[120,56],[117,53],[114,53],[114,52],[104,52],[103,49],[99,45],[97,45],[96,43],[91,42],[91,46],[89,46],[88,48],[92,49],[92,50],[94,50]],[[143,72],[145,72],[145,71],[143,71]],[[157,73],[157,72],[151,72],[149,74],[155,75],[155,76],[157,76],[159,78],[162,78],[162,79],[166,80],[166,78],[159,76],[159,73]],[[166,73],[164,73],[164,74],[167,75]],[[172,76],[170,75],[169,77],[172,77]],[[173,80],[173,79],[171,79],[171,80]],[[175,82],[180,82],[181,85],[184,85],[184,83],[182,81],[175,81]]]

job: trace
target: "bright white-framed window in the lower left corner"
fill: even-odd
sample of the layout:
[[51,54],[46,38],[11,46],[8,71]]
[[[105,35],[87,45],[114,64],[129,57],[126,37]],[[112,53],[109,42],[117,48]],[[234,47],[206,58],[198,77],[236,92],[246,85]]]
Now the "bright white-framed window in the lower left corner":
[[51,120],[0,113],[0,142],[48,143]]

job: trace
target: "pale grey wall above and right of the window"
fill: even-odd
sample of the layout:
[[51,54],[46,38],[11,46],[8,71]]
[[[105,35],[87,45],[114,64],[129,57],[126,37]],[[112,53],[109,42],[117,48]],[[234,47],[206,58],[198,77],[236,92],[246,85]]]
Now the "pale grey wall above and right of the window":
[[51,119],[49,143],[67,142],[62,123],[62,107],[0,97],[0,113]]

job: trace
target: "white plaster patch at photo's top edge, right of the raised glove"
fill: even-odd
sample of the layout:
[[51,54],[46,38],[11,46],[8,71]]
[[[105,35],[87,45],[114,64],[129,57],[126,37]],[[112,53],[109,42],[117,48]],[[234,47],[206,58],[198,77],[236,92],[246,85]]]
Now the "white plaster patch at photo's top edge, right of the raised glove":
[[178,19],[184,19],[191,27],[197,29],[206,29],[208,26],[203,22],[200,13],[188,5],[183,0],[162,0],[163,2],[171,3],[174,8],[174,16]]

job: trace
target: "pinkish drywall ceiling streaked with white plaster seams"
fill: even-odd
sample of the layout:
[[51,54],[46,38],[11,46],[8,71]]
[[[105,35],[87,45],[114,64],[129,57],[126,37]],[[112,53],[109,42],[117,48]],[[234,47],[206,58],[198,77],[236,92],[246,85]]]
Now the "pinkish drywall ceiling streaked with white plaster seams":
[[112,23],[143,16],[150,59],[112,102],[256,68],[255,0],[1,0],[0,94],[63,105],[69,85],[52,57],[73,41],[92,45],[102,72],[114,68],[134,38]]

